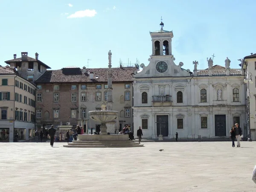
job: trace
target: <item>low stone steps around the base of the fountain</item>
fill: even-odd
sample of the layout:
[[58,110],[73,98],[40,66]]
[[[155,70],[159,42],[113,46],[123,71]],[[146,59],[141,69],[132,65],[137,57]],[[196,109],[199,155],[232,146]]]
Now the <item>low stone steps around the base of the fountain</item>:
[[125,148],[125,147],[143,147],[139,143],[134,141],[75,141],[73,143],[67,143],[63,147],[73,147],[73,148]]

